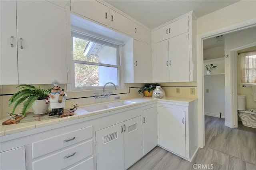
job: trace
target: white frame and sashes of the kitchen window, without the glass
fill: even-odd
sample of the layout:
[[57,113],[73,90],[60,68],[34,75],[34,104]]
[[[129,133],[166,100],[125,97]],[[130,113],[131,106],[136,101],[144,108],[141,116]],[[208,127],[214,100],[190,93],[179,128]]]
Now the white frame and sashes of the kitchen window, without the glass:
[[[86,40],[86,41],[100,43],[102,45],[107,45],[107,46],[116,48],[116,63],[117,63],[117,65],[74,60],[73,37],[80,38],[80,39]],[[69,91],[98,90],[98,89],[103,89],[103,87],[104,87],[103,85],[102,86],[90,86],[90,87],[89,86],[88,87],[76,87],[75,86],[75,63],[117,68],[118,85],[116,85],[116,88],[120,89],[122,87],[122,85],[121,85],[122,80],[121,80],[121,60],[120,60],[121,49],[120,49],[120,46],[121,45],[118,43],[113,43],[108,40],[104,40],[103,38],[100,38],[100,37],[94,37],[94,36],[90,36],[88,34],[83,34],[81,32],[76,32],[76,31],[72,30],[71,31],[72,83],[70,85],[68,85]],[[108,86],[110,86],[110,87],[108,87]],[[106,87],[105,87],[105,89],[110,89],[110,88],[113,88],[113,85],[109,84],[109,85],[106,85]]]

